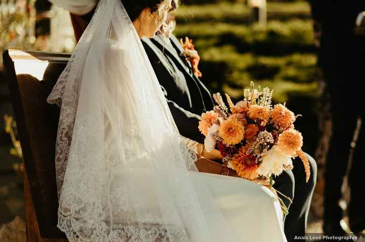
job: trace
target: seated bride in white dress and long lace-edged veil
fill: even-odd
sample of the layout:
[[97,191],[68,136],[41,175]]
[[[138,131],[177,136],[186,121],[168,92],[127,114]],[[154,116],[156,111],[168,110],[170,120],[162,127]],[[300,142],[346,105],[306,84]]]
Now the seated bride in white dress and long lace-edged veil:
[[101,0],[48,97],[61,107],[58,227],[70,241],[286,241],[275,195],[199,173],[203,146],[177,131],[140,42],[170,5]]

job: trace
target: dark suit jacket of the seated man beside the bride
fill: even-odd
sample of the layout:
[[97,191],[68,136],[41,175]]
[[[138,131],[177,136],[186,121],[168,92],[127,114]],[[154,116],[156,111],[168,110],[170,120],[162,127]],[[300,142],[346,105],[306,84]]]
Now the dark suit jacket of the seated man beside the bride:
[[192,72],[191,66],[179,55],[183,51],[173,35],[164,39],[143,38],[144,50],[157,75],[167,103],[181,135],[202,142],[198,130],[199,116],[212,110],[213,101],[208,89]]

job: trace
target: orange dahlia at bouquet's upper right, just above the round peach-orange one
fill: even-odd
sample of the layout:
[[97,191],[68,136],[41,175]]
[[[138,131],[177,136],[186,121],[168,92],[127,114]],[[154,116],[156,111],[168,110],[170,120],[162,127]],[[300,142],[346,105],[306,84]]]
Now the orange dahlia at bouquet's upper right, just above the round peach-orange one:
[[288,129],[295,121],[295,115],[282,104],[276,104],[271,110],[271,120],[277,129]]

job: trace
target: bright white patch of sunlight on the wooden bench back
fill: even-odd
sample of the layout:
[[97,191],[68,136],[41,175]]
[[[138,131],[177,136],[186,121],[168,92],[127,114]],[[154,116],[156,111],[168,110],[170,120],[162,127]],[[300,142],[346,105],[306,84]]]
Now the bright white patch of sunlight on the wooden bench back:
[[29,61],[29,60],[16,60],[14,61],[15,72],[17,74],[29,74],[34,76],[38,80],[43,79],[43,75],[48,66],[48,61]]

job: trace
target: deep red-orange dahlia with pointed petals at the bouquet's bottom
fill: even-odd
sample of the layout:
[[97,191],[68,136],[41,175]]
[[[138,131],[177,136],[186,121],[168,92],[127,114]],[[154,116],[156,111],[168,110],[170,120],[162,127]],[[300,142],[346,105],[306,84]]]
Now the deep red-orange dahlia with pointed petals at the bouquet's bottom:
[[230,162],[230,166],[237,172],[237,174],[245,179],[253,180],[258,178],[257,169],[260,167],[256,163],[256,158],[252,154],[246,154],[247,148],[245,146],[238,150]]

